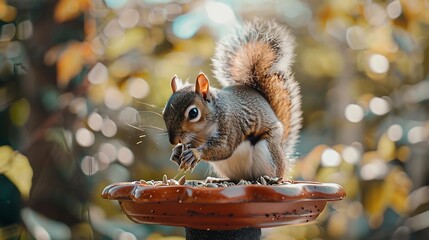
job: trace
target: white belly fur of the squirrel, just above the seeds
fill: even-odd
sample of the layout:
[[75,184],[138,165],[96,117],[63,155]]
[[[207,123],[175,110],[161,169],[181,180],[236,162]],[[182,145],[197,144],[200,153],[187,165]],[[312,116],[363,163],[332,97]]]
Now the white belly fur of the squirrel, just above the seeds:
[[267,141],[252,146],[249,141],[238,145],[231,157],[220,161],[209,161],[215,173],[222,178],[255,179],[259,176],[275,176],[275,166]]

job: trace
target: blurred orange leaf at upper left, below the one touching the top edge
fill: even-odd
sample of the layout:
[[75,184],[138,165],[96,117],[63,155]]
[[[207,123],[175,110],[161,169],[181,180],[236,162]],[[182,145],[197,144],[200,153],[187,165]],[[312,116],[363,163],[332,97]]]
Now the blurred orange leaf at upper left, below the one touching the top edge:
[[57,62],[57,81],[65,87],[82,70],[82,48],[80,43],[71,43],[61,53]]

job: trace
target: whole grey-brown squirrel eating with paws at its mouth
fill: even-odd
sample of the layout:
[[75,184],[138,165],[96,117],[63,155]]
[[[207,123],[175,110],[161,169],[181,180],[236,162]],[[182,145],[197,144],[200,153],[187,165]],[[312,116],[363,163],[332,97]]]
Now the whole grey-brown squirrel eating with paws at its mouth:
[[204,73],[195,84],[174,75],[163,110],[170,160],[180,169],[208,161],[218,177],[283,178],[301,128],[301,94],[294,80],[295,39],[275,21],[246,22],[219,42],[210,86]]

